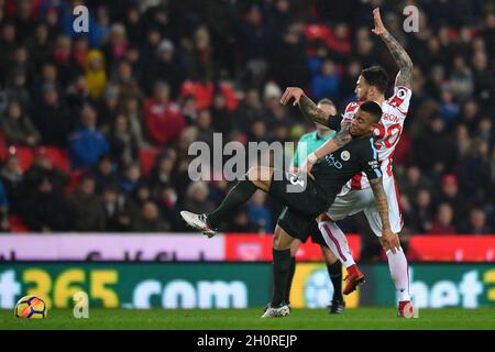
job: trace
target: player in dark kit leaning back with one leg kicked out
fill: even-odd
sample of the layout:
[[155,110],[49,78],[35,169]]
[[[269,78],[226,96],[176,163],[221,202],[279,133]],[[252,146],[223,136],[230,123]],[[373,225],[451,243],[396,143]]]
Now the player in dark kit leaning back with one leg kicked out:
[[[284,99],[284,98],[283,98]],[[213,237],[221,221],[246,202],[256,189],[268,193],[287,208],[280,213],[273,240],[273,298],[262,317],[284,317],[290,314],[286,300],[286,287],[290,268],[290,244],[294,239],[305,239],[308,227],[327,211],[343,185],[355,174],[364,172],[370,179],[383,223],[384,238],[391,241],[395,252],[398,238],[392,233],[388,204],[382,185],[377,153],[373,143],[373,129],[382,118],[382,108],[374,101],[362,103],[355,118],[330,141],[333,150],[321,146],[311,153],[297,175],[272,167],[256,166],[246,173],[229,191],[222,204],[208,215],[182,211],[183,219],[208,237]],[[341,118],[327,117],[327,124],[340,125]],[[330,151],[329,153],[326,153]],[[316,157],[321,154],[320,157]],[[305,163],[306,164],[306,163]],[[304,173],[307,170],[308,174]],[[307,177],[309,176],[309,177]]]

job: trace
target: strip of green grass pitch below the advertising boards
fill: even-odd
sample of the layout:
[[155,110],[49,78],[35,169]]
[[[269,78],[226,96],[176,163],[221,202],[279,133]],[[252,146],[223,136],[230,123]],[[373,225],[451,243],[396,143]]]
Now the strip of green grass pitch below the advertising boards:
[[394,308],[348,309],[329,315],[324,309],[293,309],[285,318],[261,319],[262,308],[250,309],[90,309],[89,319],[76,319],[72,309],[51,309],[45,319],[20,319],[0,310],[4,329],[495,329],[495,308],[420,309],[419,318],[395,317]]

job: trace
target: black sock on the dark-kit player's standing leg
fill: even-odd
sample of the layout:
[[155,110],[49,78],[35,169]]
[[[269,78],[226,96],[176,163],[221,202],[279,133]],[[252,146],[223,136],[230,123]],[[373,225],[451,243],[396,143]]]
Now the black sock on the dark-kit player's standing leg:
[[277,251],[272,250],[273,253],[273,298],[272,307],[279,307],[282,304],[287,304],[286,292],[287,282],[290,272],[290,249]]

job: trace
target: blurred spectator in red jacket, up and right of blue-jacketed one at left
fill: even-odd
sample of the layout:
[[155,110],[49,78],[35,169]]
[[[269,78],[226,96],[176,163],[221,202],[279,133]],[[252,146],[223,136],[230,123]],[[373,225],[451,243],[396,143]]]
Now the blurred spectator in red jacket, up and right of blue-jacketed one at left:
[[180,108],[170,101],[170,89],[166,82],[158,81],[154,87],[154,95],[144,106],[150,140],[157,146],[173,143],[186,128]]

